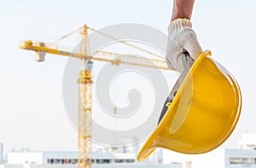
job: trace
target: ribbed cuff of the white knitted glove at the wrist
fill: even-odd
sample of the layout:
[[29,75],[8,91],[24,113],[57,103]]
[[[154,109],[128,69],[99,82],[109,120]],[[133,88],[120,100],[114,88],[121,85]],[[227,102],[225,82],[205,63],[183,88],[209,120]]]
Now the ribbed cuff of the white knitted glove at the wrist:
[[180,29],[184,27],[192,28],[191,21],[187,19],[172,20],[172,22],[168,26],[168,32],[172,36],[173,34],[175,34],[176,32],[178,32]]

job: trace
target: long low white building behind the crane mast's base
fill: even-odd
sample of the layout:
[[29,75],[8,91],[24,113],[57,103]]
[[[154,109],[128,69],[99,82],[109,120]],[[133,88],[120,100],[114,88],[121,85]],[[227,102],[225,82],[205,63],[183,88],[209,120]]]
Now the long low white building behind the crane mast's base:
[[[133,153],[93,153],[92,163],[95,168],[183,168],[181,163],[166,165],[137,163],[136,154]],[[77,166],[78,152],[13,151],[8,154],[8,164],[4,168],[75,168]]]

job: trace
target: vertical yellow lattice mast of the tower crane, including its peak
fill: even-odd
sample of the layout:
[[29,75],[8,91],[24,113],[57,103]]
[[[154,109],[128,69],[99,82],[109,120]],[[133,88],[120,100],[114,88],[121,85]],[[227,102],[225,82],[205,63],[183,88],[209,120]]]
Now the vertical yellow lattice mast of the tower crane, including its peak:
[[[81,70],[79,72],[79,168],[91,167],[92,154],[92,79],[91,70],[93,62],[89,60],[90,49],[88,40],[88,29],[84,25],[81,33],[80,53],[88,55],[88,58],[81,58]],[[86,56],[87,57],[87,56]]]

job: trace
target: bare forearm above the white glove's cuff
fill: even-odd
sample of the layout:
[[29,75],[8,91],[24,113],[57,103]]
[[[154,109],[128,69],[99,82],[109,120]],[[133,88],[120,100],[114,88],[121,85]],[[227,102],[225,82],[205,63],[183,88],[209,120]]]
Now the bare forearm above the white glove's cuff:
[[195,0],[174,0],[172,9],[172,20],[177,18],[191,19]]

